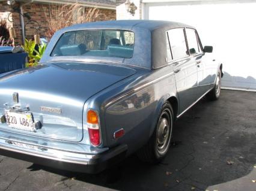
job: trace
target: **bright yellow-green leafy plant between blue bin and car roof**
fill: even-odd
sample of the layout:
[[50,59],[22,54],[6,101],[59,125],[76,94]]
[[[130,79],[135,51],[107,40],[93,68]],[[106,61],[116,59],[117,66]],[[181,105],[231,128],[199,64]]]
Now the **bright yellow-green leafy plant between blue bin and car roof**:
[[35,41],[25,39],[25,45],[22,46],[26,53],[28,53],[28,62],[26,63],[26,67],[32,67],[38,65],[43,53],[46,49],[46,44],[40,44],[38,50],[35,50]]

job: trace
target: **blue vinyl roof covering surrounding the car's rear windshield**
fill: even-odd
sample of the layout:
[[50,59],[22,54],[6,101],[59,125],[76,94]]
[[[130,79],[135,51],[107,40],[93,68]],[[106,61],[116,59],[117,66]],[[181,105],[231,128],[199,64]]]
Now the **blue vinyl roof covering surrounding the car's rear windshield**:
[[127,65],[141,66],[148,69],[162,68],[163,66],[168,65],[168,60],[166,60],[166,58],[168,57],[168,51],[166,49],[166,31],[174,28],[193,27],[182,23],[159,20],[113,20],[73,25],[68,28],[61,29],[56,32],[55,35],[53,35],[53,38],[52,40],[50,40],[50,43],[46,48],[46,52],[44,53],[41,62],[51,62],[60,59],[79,59],[85,61],[87,60],[87,57],[84,56],[51,57],[50,53],[61,35],[66,32],[94,29],[113,29],[134,32],[135,46],[133,51],[133,57],[130,59],[123,59],[120,57],[95,57],[91,59],[100,60],[102,62],[119,62]]

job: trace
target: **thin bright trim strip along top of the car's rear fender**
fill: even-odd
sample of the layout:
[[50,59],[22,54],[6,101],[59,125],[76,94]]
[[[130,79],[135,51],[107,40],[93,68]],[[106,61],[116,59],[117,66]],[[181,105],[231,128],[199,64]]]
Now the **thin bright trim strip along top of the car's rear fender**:
[[164,78],[169,77],[172,74],[174,74],[174,72],[171,72],[169,74],[163,75],[162,77],[156,78],[156,79],[154,79],[154,80],[152,80],[152,81],[150,81],[148,83],[142,84],[141,86],[135,87],[134,89],[130,90],[129,92],[124,93],[123,95],[117,96],[117,97],[115,97],[114,99],[112,99],[109,102],[106,102],[105,107],[109,107],[109,105],[114,104],[115,102],[119,101],[120,99],[122,99],[122,98],[124,98],[124,97],[126,97],[128,95],[132,95],[133,93],[138,92],[139,90],[142,90],[145,87],[150,86],[151,84],[156,83],[157,81],[163,80]]

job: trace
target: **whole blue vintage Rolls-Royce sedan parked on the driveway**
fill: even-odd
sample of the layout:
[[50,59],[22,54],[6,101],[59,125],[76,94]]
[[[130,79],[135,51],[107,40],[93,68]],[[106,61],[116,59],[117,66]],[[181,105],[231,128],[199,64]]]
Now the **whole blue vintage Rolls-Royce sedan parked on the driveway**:
[[0,75],[0,154],[92,174],[132,153],[157,163],[174,121],[205,95],[220,96],[212,51],[175,22],[61,29],[38,66]]

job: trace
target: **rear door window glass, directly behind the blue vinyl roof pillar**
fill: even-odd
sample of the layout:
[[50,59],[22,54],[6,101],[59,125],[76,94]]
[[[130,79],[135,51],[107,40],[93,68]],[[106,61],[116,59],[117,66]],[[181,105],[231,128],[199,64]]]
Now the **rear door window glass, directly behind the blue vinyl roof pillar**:
[[186,39],[184,35],[184,29],[171,29],[168,31],[169,43],[171,45],[171,52],[173,59],[180,59],[187,57]]

